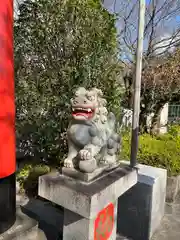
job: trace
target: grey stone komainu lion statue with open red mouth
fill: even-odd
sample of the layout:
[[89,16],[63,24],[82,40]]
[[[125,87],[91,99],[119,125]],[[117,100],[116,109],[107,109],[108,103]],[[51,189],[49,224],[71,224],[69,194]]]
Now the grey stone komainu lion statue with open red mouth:
[[80,87],[71,99],[71,106],[69,152],[64,167],[92,173],[99,166],[114,166],[121,141],[115,132],[115,116],[108,113],[102,91]]

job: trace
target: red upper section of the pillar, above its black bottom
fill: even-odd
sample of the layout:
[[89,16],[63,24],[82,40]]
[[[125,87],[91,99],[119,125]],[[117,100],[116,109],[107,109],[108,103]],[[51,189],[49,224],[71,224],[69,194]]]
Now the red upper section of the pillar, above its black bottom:
[[15,165],[13,0],[0,0],[0,178]]

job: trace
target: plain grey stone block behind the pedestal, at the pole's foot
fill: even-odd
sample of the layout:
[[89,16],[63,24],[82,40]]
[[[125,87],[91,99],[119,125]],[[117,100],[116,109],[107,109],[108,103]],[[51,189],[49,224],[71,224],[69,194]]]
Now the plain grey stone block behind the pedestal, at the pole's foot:
[[138,165],[138,183],[118,200],[118,233],[149,240],[164,216],[167,171]]

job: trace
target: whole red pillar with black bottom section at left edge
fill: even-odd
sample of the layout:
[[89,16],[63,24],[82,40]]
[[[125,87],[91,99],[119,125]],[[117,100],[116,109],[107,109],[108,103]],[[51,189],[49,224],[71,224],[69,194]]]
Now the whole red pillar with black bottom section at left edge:
[[13,0],[0,0],[0,234],[15,221]]

